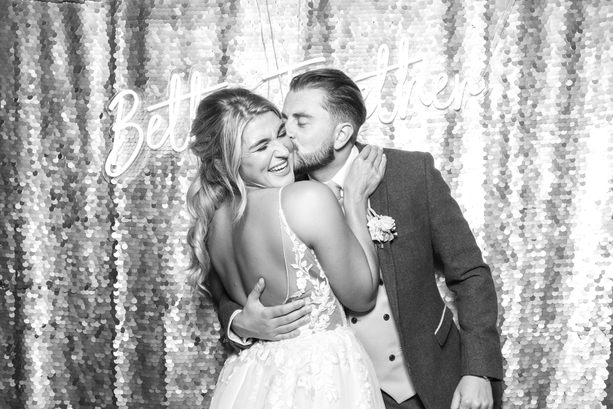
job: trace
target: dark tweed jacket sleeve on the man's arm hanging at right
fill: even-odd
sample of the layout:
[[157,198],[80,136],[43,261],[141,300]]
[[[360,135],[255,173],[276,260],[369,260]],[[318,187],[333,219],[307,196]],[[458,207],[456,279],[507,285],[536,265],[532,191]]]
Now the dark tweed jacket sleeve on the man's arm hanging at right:
[[462,376],[502,380],[498,300],[492,273],[429,153],[425,154],[424,167],[433,250],[443,262],[447,286],[456,294]]

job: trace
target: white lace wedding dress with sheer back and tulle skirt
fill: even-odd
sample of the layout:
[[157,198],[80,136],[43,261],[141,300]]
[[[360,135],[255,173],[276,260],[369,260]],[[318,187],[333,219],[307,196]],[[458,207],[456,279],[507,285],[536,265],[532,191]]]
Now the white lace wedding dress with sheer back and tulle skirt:
[[[311,321],[297,338],[258,341],[224,364],[210,409],[385,409],[375,369],[312,250],[279,218],[286,302],[305,299]],[[291,294],[291,295],[290,295]]]

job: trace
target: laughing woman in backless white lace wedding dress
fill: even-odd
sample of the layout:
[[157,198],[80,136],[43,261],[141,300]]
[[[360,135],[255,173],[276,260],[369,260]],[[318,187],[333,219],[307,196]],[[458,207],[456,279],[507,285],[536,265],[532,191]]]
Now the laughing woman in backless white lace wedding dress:
[[264,278],[262,304],[303,299],[312,308],[299,337],[231,354],[210,408],[384,409],[343,305],[375,305],[379,264],[365,191],[381,182],[386,161],[381,150],[362,151],[375,186],[346,189],[343,215],[326,185],[294,183],[294,147],[280,117],[271,102],[234,88],[205,97],[192,124],[199,169],[187,199],[189,283],[199,292],[223,285],[244,305]]

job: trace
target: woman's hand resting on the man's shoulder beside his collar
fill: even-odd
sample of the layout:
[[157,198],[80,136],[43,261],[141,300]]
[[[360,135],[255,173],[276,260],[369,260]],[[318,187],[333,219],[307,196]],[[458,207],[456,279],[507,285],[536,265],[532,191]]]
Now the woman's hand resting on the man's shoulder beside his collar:
[[383,148],[366,145],[349,168],[343,188],[345,203],[367,202],[383,180],[386,164]]

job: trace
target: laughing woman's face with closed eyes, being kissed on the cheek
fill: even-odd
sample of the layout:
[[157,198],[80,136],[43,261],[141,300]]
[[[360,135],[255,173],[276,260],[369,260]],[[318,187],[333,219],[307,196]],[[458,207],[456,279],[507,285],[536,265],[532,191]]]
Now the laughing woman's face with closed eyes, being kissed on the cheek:
[[267,188],[294,182],[294,145],[281,132],[281,119],[274,112],[249,121],[242,139],[240,176],[245,182]]

